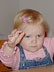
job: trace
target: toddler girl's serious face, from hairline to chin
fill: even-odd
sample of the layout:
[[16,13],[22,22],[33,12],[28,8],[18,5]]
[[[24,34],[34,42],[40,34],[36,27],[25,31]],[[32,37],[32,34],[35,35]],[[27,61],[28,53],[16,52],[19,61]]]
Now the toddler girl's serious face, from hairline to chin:
[[25,36],[21,41],[20,45],[31,52],[35,52],[42,48],[44,41],[44,30],[40,24],[27,25],[23,29]]

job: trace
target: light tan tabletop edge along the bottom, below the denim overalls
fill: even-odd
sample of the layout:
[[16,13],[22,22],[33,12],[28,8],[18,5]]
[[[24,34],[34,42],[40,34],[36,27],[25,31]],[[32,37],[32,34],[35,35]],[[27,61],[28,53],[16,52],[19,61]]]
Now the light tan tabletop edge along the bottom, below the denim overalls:
[[12,71],[12,72],[54,72],[54,66],[44,66],[39,68],[32,68],[32,69],[26,69],[26,70],[18,70],[18,71]]

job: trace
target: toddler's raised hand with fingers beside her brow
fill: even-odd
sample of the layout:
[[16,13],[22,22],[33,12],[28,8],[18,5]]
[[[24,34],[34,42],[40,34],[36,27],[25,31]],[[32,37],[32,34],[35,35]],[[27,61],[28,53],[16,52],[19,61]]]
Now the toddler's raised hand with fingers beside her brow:
[[20,41],[23,39],[25,33],[18,31],[17,29],[13,30],[10,35],[8,35],[8,45],[14,48]]

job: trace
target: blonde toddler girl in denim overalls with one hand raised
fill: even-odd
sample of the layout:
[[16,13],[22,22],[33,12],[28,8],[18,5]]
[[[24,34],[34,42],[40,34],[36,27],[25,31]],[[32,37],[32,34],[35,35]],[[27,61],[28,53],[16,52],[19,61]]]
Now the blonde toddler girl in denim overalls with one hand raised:
[[0,60],[13,70],[53,64],[54,38],[43,15],[32,9],[17,13],[14,29],[0,49]]

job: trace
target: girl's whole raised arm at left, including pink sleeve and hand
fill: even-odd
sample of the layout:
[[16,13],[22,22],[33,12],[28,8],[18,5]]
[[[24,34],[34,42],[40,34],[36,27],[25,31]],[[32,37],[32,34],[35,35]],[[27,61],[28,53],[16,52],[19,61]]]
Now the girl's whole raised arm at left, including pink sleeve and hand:
[[0,60],[9,67],[16,66],[19,61],[19,49],[16,45],[20,42],[24,33],[21,31],[13,31],[9,37],[8,42],[6,42],[0,49]]

